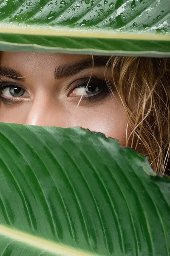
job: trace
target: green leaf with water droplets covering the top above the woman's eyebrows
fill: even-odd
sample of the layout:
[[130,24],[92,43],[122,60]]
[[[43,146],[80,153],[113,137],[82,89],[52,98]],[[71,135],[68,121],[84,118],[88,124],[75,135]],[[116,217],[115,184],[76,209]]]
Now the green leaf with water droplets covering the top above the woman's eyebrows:
[[0,50],[170,56],[170,3],[0,0]]

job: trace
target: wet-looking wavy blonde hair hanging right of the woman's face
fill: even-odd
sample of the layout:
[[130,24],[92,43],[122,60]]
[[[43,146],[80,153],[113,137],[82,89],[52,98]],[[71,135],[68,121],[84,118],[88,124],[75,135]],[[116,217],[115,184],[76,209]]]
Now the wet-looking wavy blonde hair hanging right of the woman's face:
[[105,79],[113,93],[108,68],[128,118],[126,145],[142,148],[153,170],[164,173],[170,156],[170,58],[111,57]]

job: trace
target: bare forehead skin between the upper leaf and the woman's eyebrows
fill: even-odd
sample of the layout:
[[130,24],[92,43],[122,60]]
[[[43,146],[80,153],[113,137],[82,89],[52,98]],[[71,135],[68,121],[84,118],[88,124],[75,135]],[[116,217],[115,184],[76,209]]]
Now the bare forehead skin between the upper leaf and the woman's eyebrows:
[[20,76],[36,78],[53,77],[56,67],[89,58],[89,55],[61,53],[1,52],[0,67],[15,70]]

